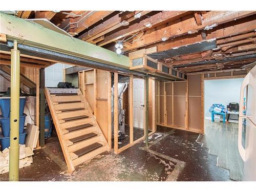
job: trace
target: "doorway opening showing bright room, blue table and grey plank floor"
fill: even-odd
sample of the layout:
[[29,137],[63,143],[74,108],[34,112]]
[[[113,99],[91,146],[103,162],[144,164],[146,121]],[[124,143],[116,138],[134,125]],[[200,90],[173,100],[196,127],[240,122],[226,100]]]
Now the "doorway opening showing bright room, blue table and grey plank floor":
[[238,151],[240,89],[243,78],[204,80],[204,131],[198,142],[218,156],[217,165],[230,171],[230,179],[243,180]]

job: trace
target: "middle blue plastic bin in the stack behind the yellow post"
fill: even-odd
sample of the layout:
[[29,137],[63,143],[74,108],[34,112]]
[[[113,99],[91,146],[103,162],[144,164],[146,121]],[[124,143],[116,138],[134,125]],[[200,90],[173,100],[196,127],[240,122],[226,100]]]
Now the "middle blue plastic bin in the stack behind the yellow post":
[[[24,132],[24,124],[26,119],[26,114],[19,116],[19,134]],[[10,137],[10,118],[0,118],[1,128],[4,137]]]

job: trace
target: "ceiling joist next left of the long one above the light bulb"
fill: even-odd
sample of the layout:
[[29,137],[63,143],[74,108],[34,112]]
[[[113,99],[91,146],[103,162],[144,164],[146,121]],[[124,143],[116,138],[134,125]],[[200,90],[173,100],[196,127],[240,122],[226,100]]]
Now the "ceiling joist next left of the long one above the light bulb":
[[106,44],[109,44],[110,42],[113,42],[115,40],[123,38],[127,35],[141,31],[141,30],[147,28],[144,25],[145,23],[151,23],[152,26],[154,27],[155,25],[164,24],[164,23],[169,22],[170,20],[175,20],[177,18],[180,18],[183,15],[185,15],[186,13],[188,13],[188,11],[163,11],[163,12],[157,13],[157,14],[151,16],[150,18],[146,18],[146,19],[142,20],[141,22],[130,26],[128,29],[123,29],[114,34],[106,36],[105,40],[100,42],[100,44],[98,46],[104,46]]

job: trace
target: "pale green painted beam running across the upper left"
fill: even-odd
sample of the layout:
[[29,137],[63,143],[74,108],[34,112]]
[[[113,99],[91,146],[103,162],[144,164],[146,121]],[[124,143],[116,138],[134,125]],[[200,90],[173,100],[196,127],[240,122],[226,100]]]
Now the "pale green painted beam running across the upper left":
[[130,66],[129,57],[118,55],[113,51],[55,32],[38,24],[32,24],[22,18],[0,13],[0,20],[0,33],[6,34],[8,40],[17,40],[18,44],[87,58],[126,69]]

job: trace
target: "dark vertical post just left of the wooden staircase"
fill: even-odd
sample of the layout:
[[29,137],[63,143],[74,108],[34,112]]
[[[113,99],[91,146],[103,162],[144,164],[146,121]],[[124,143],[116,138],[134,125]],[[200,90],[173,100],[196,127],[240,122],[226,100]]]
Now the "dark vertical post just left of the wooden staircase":
[[40,104],[39,104],[39,127],[40,127],[40,136],[39,144],[40,147],[45,146],[45,69],[40,69]]

